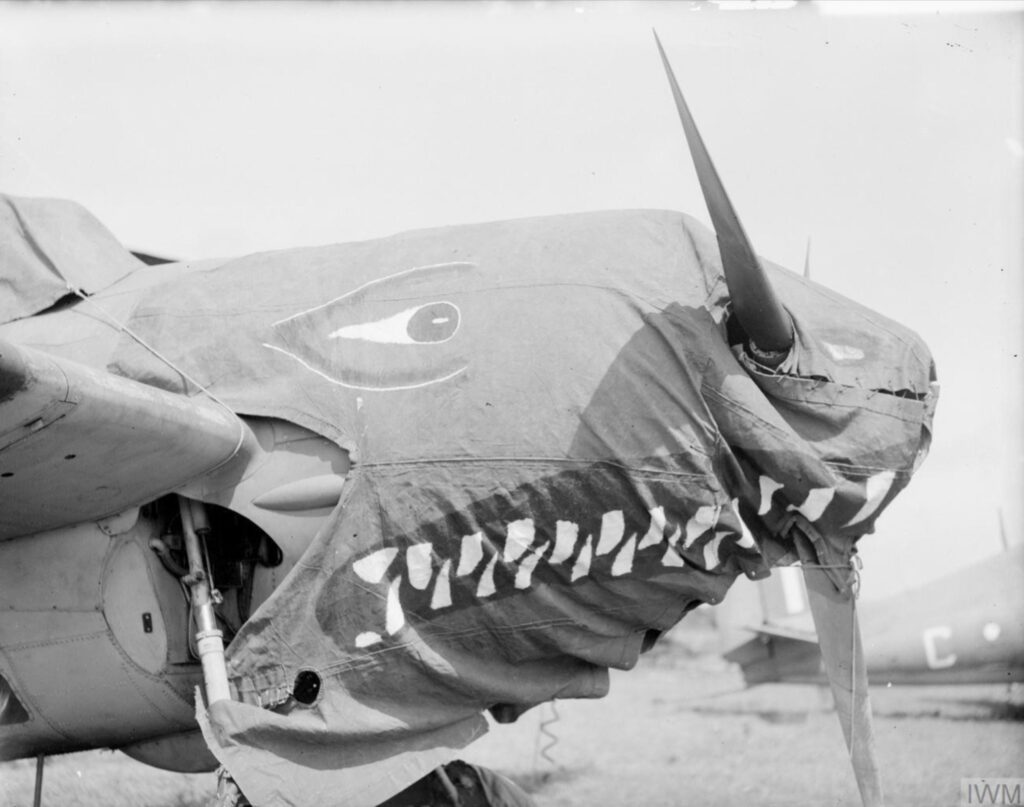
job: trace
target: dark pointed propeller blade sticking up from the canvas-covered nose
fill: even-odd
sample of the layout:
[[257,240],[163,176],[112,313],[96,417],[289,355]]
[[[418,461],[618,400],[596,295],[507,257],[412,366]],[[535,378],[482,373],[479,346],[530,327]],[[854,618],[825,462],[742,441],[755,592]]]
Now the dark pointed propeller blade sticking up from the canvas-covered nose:
[[[790,314],[775,296],[771,282],[751,246],[750,239],[739,223],[736,211],[725,193],[725,186],[715,170],[700,133],[690,115],[689,108],[679,89],[676,76],[665,55],[662,41],[654,32],[662,63],[669,77],[672,94],[676,99],[679,120],[686,133],[690,156],[696,168],[700,189],[703,193],[712,225],[718,237],[718,248],[722,254],[722,269],[732,297],[732,309],[751,341],[762,351],[785,353],[793,346],[793,323]],[[779,358],[781,360],[781,357]]]

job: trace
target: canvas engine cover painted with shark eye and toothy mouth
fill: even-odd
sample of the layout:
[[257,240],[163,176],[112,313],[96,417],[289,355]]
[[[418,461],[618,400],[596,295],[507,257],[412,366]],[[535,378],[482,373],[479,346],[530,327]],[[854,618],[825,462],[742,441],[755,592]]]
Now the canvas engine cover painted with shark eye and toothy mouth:
[[[871,530],[927,448],[931,357],[768,271],[796,334],[775,371],[730,344],[714,236],[660,211],[250,256],[139,304],[132,331],[232,410],[353,460],[228,649],[244,703],[210,710],[251,799],[376,804],[483,709],[603,694],[689,608],[795,559],[795,511],[841,549]],[[128,340],[113,369],[180,390]]]

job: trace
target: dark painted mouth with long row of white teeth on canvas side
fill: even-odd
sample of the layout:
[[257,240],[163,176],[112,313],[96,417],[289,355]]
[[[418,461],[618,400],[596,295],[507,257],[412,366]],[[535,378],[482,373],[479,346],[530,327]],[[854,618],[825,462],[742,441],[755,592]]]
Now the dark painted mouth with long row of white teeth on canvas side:
[[[543,610],[546,592],[587,600],[595,590],[647,584],[664,588],[642,618],[657,623],[658,611],[679,610],[693,599],[714,601],[724,594],[725,581],[761,565],[728,500],[711,496],[691,506],[676,474],[651,472],[638,486],[633,474],[613,465],[557,465],[543,475],[536,463],[510,468],[503,492],[460,512],[428,506],[418,522],[386,517],[383,545],[339,567],[325,588],[360,591],[362,621],[340,618],[331,607],[333,594],[326,594],[316,608],[325,631],[343,636],[350,649],[372,650],[408,641],[409,629],[426,635],[471,626],[477,609],[509,607],[514,598]],[[389,471],[380,470],[368,483],[392,490]],[[521,483],[511,484],[512,478]],[[602,512],[594,509],[599,501],[620,506]],[[694,577],[688,597],[670,593],[680,572]]]

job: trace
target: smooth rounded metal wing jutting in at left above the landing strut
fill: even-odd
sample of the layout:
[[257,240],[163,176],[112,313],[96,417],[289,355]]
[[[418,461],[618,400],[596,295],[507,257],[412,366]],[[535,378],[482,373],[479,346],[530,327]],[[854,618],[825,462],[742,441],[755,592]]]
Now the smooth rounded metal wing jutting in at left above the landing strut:
[[244,431],[205,397],[0,341],[0,540],[152,501],[229,460]]

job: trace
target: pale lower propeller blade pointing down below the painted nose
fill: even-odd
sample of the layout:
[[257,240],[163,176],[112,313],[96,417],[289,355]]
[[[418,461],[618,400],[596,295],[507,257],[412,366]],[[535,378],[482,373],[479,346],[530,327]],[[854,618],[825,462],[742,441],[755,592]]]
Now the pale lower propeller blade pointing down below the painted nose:
[[850,751],[860,801],[864,807],[883,807],[882,777],[874,750],[867,668],[857,624],[856,599],[852,592],[839,591],[823,569],[806,565],[806,561],[803,569],[821,657],[843,737]]

